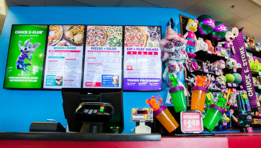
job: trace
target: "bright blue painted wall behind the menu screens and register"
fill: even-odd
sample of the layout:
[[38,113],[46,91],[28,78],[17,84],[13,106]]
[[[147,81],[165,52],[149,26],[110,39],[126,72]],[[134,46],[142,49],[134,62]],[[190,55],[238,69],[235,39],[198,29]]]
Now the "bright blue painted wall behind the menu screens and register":
[[[3,89],[12,24],[159,25],[164,37],[170,18],[174,20],[174,30],[180,33],[180,14],[195,18],[174,8],[9,7],[0,39],[0,131],[28,132],[33,121],[46,119],[67,125],[60,90]],[[180,79],[184,81],[184,77]],[[166,98],[165,81],[163,91],[158,93]],[[123,92],[123,133],[130,133],[136,126],[131,123],[131,108],[148,108],[145,100],[151,96],[156,96],[156,92]]]

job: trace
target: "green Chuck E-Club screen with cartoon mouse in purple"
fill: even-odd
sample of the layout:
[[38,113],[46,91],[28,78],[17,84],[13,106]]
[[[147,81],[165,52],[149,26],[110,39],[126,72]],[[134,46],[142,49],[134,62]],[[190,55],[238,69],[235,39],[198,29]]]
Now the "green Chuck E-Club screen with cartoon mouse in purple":
[[41,88],[47,25],[12,25],[4,88]]

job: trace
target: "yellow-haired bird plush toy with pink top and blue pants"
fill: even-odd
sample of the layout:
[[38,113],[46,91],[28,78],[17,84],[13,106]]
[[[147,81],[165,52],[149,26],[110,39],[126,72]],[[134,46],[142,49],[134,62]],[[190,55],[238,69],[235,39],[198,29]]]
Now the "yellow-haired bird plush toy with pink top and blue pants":
[[194,58],[196,54],[194,54],[195,43],[197,43],[197,37],[194,32],[197,31],[197,19],[189,19],[186,25],[186,34],[184,34],[184,38],[187,40],[186,52],[190,58]]

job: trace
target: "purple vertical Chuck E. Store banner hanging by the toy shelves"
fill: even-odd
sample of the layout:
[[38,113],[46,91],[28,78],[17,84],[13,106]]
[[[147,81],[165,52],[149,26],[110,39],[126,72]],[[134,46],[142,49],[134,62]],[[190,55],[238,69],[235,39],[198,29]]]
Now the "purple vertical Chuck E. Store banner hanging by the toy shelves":
[[243,86],[243,89],[247,91],[250,107],[257,108],[258,106],[255,95],[255,88],[253,84],[252,73],[250,71],[250,66],[247,59],[246,47],[242,31],[239,32],[238,36],[233,41],[233,45],[236,54],[231,54],[231,58],[235,59],[237,63],[240,63],[243,68],[242,71],[238,71],[238,73],[242,76],[241,85]]

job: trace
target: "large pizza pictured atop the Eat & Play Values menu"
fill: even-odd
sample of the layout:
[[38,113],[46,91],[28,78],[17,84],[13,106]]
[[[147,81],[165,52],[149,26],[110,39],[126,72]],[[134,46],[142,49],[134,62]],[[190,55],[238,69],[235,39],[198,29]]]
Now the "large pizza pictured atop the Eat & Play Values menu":
[[147,34],[140,26],[125,26],[125,47],[145,47]]

